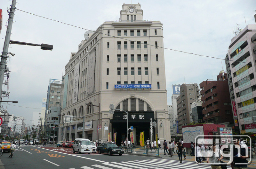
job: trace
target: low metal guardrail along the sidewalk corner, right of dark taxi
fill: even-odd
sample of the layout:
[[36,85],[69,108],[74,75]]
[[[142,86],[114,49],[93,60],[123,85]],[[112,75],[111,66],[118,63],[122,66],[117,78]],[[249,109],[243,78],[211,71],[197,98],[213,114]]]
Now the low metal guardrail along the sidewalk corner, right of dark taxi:
[[121,146],[119,147],[123,148],[124,152],[159,156],[159,148],[121,147]]

